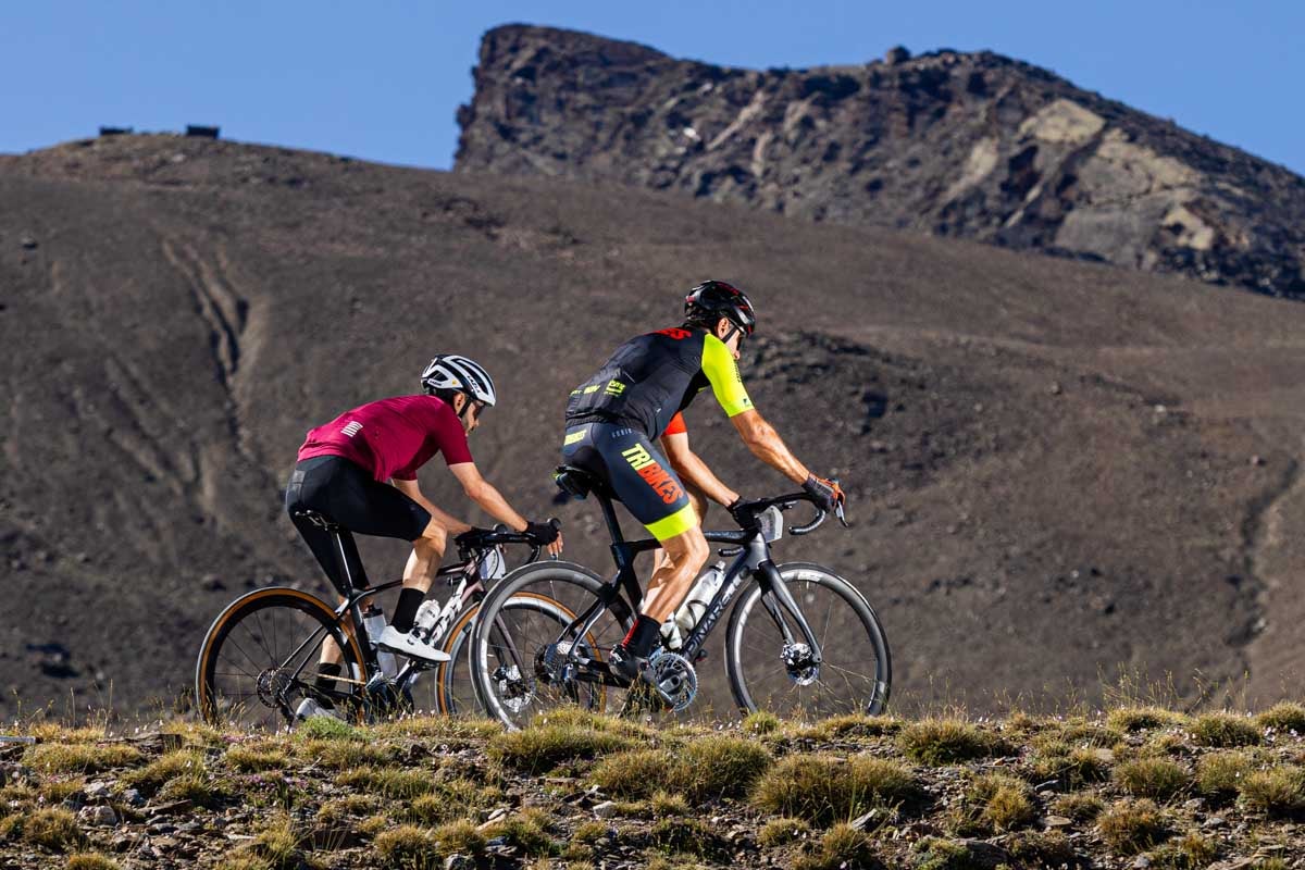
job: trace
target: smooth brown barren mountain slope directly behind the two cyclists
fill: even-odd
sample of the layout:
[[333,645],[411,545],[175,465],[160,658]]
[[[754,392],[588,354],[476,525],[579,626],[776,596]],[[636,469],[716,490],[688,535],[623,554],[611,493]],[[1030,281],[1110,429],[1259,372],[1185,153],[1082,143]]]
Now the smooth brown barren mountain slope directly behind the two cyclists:
[[[1298,691],[1302,305],[669,192],[179,136],[0,157],[0,719],[167,706],[238,593],[325,595],[279,506],[295,451],[412,391],[437,351],[499,383],[472,440],[487,477],[609,565],[595,507],[553,501],[565,398],[705,277],[750,291],[749,391],[851,493],[853,530],[776,552],[865,591],[899,710],[1056,707],[1120,668],[1188,702]],[[689,427],[740,490],[790,485],[710,399]],[[422,481],[467,511],[438,460]],[[364,547],[375,578],[406,556]]]

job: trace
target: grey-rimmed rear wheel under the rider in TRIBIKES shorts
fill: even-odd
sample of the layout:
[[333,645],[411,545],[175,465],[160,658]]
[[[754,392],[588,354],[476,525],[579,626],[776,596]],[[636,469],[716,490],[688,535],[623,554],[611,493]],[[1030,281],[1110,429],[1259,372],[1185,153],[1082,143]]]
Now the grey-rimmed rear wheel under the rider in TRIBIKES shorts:
[[[536,562],[510,573],[491,590],[480,604],[480,617],[471,634],[471,674],[485,712],[509,729],[518,729],[536,715],[565,706],[581,706],[592,712],[617,710],[608,686],[596,682],[572,682],[540,686],[535,657],[557,639],[559,631],[530,633],[525,625],[504,618],[505,603],[521,593],[545,597],[570,613],[582,613],[598,599],[604,586],[602,578],[574,562]],[[604,612],[583,643],[595,660],[602,661],[608,647],[616,644],[633,623],[624,599]],[[527,673],[529,672],[529,673]],[[568,695],[576,690],[577,697]]]

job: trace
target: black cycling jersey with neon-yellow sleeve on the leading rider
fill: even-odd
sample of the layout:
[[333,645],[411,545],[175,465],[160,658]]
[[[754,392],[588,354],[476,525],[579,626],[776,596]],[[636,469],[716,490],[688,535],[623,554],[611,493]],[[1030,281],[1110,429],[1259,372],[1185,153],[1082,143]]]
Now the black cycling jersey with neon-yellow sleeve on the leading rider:
[[572,390],[566,423],[624,423],[659,438],[707,386],[731,417],[752,410],[724,342],[705,329],[663,329],[621,344],[598,374]]

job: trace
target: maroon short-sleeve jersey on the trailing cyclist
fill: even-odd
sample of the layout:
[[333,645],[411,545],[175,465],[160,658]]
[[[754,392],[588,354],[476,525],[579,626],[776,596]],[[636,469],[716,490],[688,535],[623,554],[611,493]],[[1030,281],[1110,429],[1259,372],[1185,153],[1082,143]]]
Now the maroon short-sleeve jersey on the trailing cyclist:
[[450,466],[471,462],[458,415],[433,395],[397,395],[346,411],[308,433],[299,459],[343,457],[377,480],[414,480],[435,454]]

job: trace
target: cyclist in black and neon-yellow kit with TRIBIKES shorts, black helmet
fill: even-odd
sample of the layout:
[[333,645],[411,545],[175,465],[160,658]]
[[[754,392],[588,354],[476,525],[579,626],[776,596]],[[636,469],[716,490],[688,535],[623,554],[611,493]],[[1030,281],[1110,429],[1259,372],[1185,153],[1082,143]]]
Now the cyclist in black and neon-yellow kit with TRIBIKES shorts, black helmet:
[[642,612],[612,650],[611,668],[626,680],[643,670],[662,623],[689,593],[710,554],[683,481],[727,509],[740,501],[689,450],[680,412],[698,393],[711,387],[758,459],[801,484],[827,510],[843,501],[838,483],[817,477],[793,457],[743,386],[739,350],[757,323],[746,295],[709,280],[685,296],[684,314],[683,325],[616,348],[594,377],[572,390],[566,404],[564,462],[603,479],[664,550]]

